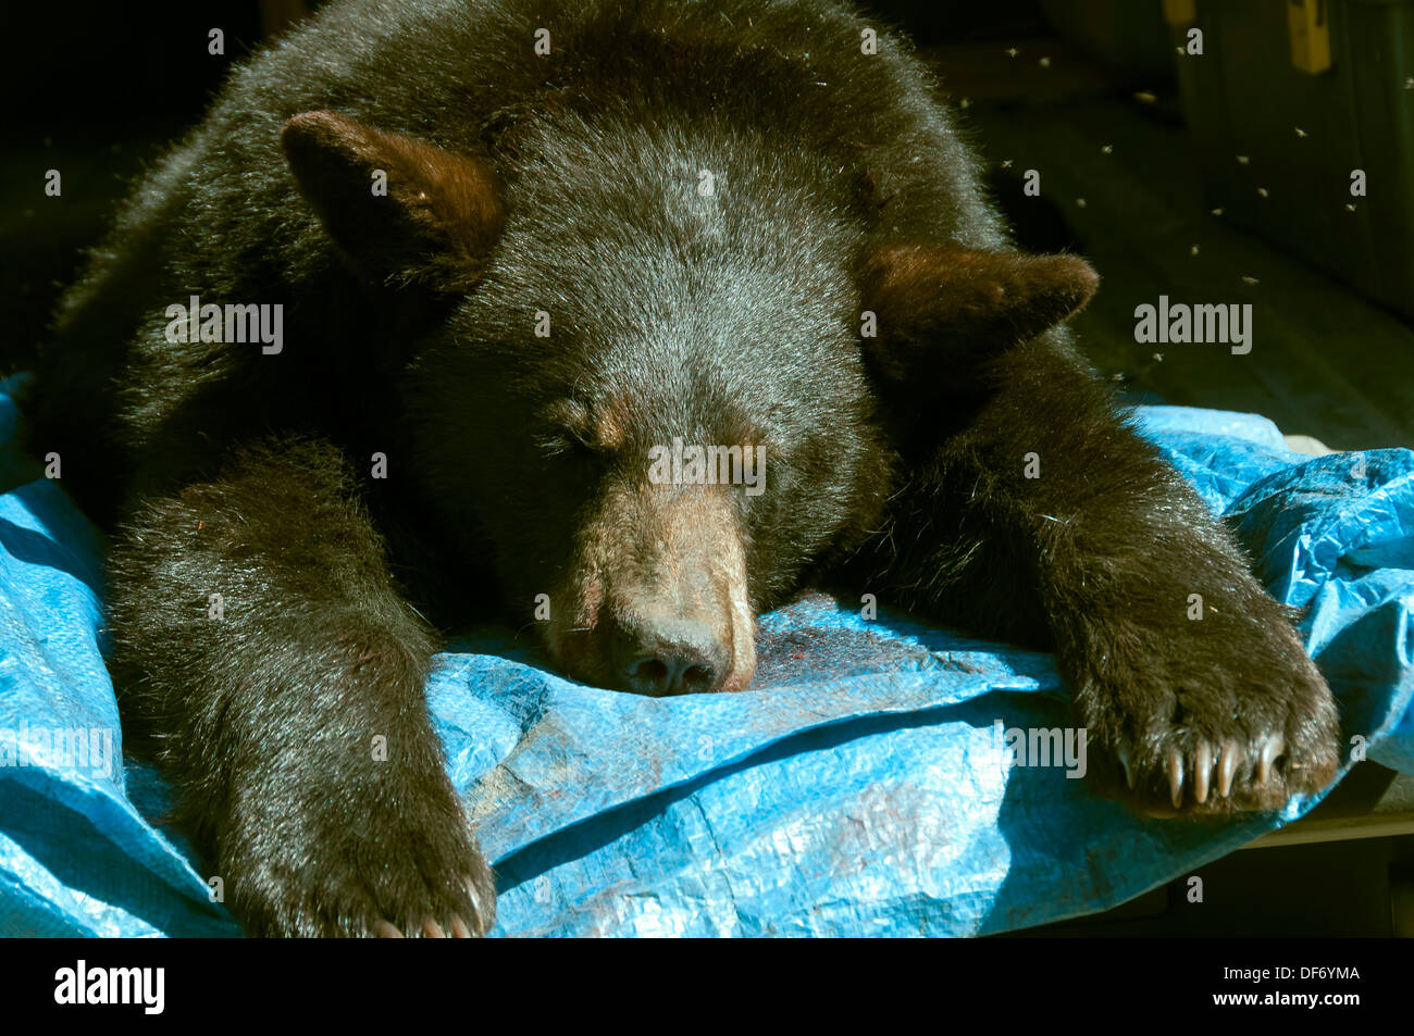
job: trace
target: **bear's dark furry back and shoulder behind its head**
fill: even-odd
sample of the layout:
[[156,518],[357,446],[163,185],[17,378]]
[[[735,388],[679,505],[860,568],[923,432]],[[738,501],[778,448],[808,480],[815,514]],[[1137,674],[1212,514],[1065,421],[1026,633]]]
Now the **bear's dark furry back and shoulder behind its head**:
[[[841,209],[868,223],[870,239],[1001,246],[926,71],[889,34],[867,54],[867,28],[843,4],[805,0],[332,4],[239,68],[124,205],[64,300],[41,366],[41,434],[66,442],[112,500],[134,472],[150,473],[139,488],[157,489],[245,437],[338,438],[348,430],[334,425],[351,416],[387,410],[378,406],[387,328],[351,304],[359,286],[281,153],[283,126],[308,110],[489,153],[512,179],[534,161],[515,150],[523,119],[573,109],[690,127],[714,117],[837,163],[839,184],[857,187]],[[167,308],[194,294],[283,304],[283,355],[168,341]]]

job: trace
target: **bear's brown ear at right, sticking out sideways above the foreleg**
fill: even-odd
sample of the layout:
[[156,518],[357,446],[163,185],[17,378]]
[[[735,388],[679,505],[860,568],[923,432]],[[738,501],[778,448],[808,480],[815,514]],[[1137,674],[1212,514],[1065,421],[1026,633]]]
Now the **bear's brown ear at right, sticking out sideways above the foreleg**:
[[1077,256],[882,247],[860,278],[877,321],[865,355],[891,382],[970,387],[986,360],[1060,324],[1099,283]]

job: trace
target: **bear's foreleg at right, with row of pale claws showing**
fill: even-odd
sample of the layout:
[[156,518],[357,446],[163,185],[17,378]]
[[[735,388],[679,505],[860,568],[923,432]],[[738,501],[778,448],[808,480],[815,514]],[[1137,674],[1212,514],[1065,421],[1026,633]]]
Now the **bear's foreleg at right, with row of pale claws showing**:
[[[908,606],[1056,652],[1090,770],[1151,814],[1270,810],[1338,765],[1290,609],[1051,335],[1000,358],[956,435],[905,465],[872,553]],[[882,599],[882,596],[881,596]]]

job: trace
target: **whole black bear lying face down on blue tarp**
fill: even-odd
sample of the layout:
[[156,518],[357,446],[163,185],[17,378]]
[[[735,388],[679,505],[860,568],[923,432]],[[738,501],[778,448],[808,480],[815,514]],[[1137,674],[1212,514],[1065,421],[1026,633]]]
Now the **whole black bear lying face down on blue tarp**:
[[1275,807],[1329,690],[1073,351],[1096,287],[844,4],[346,0],[137,188],[33,445],[252,933],[488,927],[423,694],[486,602],[580,680],[740,691],[755,616],[844,581],[1053,647],[1137,808]]

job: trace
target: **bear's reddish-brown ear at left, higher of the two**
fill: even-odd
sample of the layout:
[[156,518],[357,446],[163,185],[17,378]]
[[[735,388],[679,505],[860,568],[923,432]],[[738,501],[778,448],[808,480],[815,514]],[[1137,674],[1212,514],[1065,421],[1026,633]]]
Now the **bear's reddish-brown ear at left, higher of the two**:
[[352,267],[373,283],[467,291],[505,223],[491,167],[332,112],[280,136],[300,192]]

